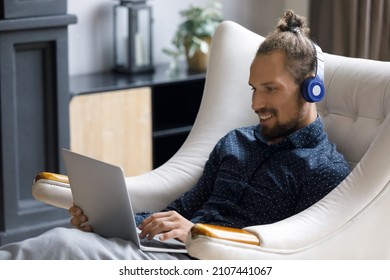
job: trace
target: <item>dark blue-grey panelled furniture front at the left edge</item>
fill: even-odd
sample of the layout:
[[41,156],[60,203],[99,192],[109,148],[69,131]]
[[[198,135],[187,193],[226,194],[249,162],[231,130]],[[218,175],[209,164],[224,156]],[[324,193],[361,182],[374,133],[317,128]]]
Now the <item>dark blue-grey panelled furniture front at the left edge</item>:
[[0,244],[69,224],[66,211],[32,197],[31,184],[40,171],[64,172],[67,25],[75,22],[71,15],[0,20]]

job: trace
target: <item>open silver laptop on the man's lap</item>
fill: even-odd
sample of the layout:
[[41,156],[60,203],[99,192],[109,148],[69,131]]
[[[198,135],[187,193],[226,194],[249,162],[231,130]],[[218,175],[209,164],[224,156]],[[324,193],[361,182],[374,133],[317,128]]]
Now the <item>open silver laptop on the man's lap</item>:
[[107,238],[130,240],[142,251],[186,253],[171,239],[140,239],[122,168],[62,149],[75,205],[83,209],[93,231]]

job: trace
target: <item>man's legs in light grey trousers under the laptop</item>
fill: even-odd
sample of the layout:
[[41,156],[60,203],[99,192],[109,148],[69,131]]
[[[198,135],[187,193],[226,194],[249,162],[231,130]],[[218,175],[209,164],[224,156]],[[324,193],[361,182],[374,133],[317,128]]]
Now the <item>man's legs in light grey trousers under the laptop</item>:
[[186,254],[142,252],[130,241],[107,239],[78,229],[55,228],[35,238],[0,248],[0,259],[190,259]]

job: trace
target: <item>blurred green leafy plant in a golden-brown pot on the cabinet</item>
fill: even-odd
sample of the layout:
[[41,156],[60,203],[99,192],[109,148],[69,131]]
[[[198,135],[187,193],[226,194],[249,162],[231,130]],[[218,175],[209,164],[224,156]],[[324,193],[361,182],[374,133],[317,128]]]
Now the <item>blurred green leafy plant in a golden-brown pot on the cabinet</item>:
[[189,71],[205,71],[211,38],[217,26],[223,20],[222,5],[213,2],[205,7],[191,5],[180,11],[184,18],[172,39],[174,49],[163,49],[163,52],[172,56],[174,63],[177,58],[185,54]]

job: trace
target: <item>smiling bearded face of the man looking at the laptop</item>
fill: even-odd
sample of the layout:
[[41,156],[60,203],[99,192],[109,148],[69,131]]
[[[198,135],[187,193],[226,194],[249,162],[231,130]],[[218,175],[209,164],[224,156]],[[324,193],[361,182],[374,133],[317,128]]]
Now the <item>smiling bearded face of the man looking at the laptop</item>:
[[301,97],[299,86],[284,64],[284,52],[276,50],[256,56],[250,68],[252,109],[259,116],[262,135],[270,144],[313,121],[309,113],[312,104]]

